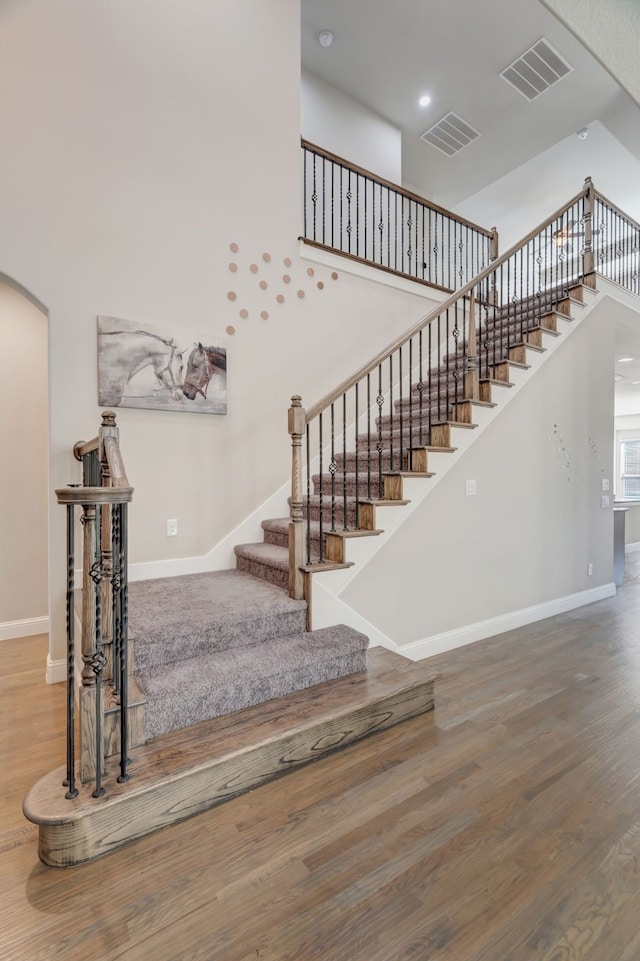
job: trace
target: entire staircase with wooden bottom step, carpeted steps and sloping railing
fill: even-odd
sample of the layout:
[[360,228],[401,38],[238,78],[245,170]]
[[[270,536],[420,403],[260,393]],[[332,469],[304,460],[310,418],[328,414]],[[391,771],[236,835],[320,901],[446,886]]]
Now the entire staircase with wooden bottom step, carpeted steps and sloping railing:
[[[311,629],[312,578],[349,571],[347,545],[356,539],[372,554],[385,536],[379,509],[408,514],[405,480],[412,490],[419,484],[424,496],[435,476],[431,462],[460,456],[478,423],[495,416],[514,382],[529,375],[530,365],[584,310],[595,289],[593,204],[589,183],[311,411],[294,398],[290,516],[265,519],[260,543],[237,545],[235,570],[132,584],[128,610],[125,604],[114,614],[114,638],[128,617],[131,650],[125,629],[105,658],[99,602],[102,597],[106,610],[109,588],[105,593],[100,586],[102,562],[94,576],[85,537],[83,595],[94,590],[94,577],[98,608],[87,615],[83,606],[81,693],[97,720],[92,725],[82,716],[91,762],[83,760],[82,770],[86,775],[93,764],[96,788],[90,773],[75,791],[68,761],[66,777],[58,769],[27,795],[24,811],[40,825],[46,864],[96,857],[433,709],[436,677],[428,665],[383,648],[367,651],[368,639],[355,625]],[[555,273],[543,270],[540,238],[580,219],[586,240],[579,260],[563,261]],[[104,443],[80,445],[80,453],[100,449],[107,490],[119,477],[131,499],[116,435],[113,422]],[[96,476],[85,479],[94,514],[95,505],[117,502],[95,486]],[[83,505],[85,532],[99,554],[99,531],[107,537],[110,522],[98,512],[90,523],[87,486],[57,493],[63,503]],[[114,530],[119,524],[126,526],[126,518]],[[71,528],[71,545],[72,535]],[[106,571],[118,576],[106,580],[115,595],[116,580],[126,580],[115,541],[111,557]],[[73,572],[72,554],[68,569]],[[72,658],[70,665],[72,677]],[[128,708],[127,685],[133,692]],[[119,769],[111,757],[118,739]],[[67,797],[61,781],[70,785]]]

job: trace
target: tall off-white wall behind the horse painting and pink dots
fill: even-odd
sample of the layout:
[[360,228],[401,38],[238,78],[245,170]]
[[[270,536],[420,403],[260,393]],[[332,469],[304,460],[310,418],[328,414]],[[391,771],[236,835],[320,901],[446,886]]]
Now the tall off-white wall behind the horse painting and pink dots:
[[[196,325],[228,348],[227,416],[118,412],[134,563],[217,544],[289,476],[291,394],[313,403],[428,307],[330,267],[311,277],[298,256],[298,14],[297,0],[0,9],[0,270],[50,311],[50,490],[79,479],[72,445],[98,428],[98,314],[177,336]],[[167,539],[170,517],[180,533]],[[57,661],[53,493],[50,521]]]

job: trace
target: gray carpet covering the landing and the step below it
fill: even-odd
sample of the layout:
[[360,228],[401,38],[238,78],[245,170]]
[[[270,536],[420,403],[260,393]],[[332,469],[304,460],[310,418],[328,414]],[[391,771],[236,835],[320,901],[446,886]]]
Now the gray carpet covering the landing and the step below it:
[[344,625],[307,632],[306,609],[237,570],[133,582],[146,738],[365,670],[368,638]]

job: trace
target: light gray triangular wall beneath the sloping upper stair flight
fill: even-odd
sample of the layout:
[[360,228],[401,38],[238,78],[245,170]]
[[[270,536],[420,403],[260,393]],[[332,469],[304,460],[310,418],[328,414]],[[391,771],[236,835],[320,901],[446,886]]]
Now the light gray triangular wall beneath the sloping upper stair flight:
[[600,498],[615,309],[601,303],[558,345],[341,595],[396,644],[428,650],[435,635],[613,580],[613,499],[603,510]]

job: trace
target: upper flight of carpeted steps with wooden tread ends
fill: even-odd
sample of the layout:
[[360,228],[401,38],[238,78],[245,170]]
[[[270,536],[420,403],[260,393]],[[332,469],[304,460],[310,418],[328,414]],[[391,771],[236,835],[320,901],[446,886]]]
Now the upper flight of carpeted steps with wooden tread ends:
[[[465,351],[460,345],[430,371],[426,387],[414,384],[408,396],[394,400],[393,413],[376,418],[375,449],[370,433],[357,433],[351,449],[334,454],[333,472],[312,475],[312,493],[304,505],[308,574],[351,566],[349,540],[384,533],[376,508],[409,503],[403,496],[405,478],[419,478],[427,485],[436,476],[429,470],[430,458],[455,455],[460,432],[476,429],[475,415],[504,405],[515,372],[529,371],[532,355],[544,354],[562,329],[581,315],[595,293],[593,282],[591,276],[585,283],[561,285],[492,310],[488,322],[475,330],[485,355],[485,373],[478,378],[475,397],[460,394],[457,381]],[[327,497],[331,491],[333,497]],[[237,569],[286,588],[289,526],[289,517],[262,521],[262,542],[234,548]]]

